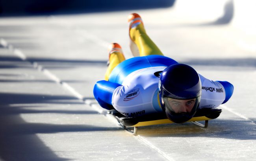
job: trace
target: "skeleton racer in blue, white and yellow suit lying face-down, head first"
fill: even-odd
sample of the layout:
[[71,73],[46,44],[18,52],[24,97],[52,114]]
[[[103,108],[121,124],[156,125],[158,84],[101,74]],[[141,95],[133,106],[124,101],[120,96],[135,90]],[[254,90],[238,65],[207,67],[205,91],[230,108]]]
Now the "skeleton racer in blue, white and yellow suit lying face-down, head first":
[[[112,114],[129,118],[128,122],[134,118],[132,123],[124,121],[125,126],[165,118],[184,123],[193,121],[191,118],[196,115],[218,117],[221,110],[215,108],[230,99],[233,85],[206,79],[192,67],[163,56],[148,37],[138,14],[131,14],[128,22],[134,58],[125,60],[121,46],[111,44],[105,80],[96,82],[93,91],[100,106],[115,109],[117,112]],[[200,120],[207,117],[194,119]]]

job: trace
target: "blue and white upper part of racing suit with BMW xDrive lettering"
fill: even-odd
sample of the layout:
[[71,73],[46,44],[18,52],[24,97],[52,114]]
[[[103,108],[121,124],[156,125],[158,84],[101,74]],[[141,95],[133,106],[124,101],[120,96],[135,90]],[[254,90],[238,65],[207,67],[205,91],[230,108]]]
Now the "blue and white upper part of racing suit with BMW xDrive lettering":
[[[124,116],[163,112],[158,95],[161,71],[177,64],[161,55],[134,57],[114,68],[109,81],[96,82],[95,99],[106,109],[115,108]],[[230,99],[234,87],[226,81],[212,81],[199,74],[202,96],[199,108],[217,108]]]

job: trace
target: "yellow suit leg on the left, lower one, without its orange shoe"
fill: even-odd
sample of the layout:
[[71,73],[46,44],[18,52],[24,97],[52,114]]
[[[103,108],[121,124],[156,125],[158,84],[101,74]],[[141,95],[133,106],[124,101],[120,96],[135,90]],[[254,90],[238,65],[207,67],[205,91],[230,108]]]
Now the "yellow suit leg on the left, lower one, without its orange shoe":
[[125,58],[124,58],[124,55],[122,53],[119,53],[119,52],[114,52],[114,53],[111,53],[110,54],[110,57],[109,57],[109,66],[108,66],[108,69],[105,73],[105,80],[108,80],[109,79],[109,75],[111,73],[111,71],[119,64],[121,63],[122,61],[124,61]]

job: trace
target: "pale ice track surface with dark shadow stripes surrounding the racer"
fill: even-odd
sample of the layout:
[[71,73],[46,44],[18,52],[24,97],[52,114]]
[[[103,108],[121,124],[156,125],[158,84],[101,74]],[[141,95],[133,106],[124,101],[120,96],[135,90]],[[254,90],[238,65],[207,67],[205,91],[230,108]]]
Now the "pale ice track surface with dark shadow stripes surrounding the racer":
[[[180,0],[165,9],[0,18],[0,160],[254,161],[252,4],[228,1],[233,15],[224,20],[225,3],[217,2],[197,9]],[[93,86],[104,79],[109,43],[118,42],[126,59],[132,57],[132,12],[166,56],[234,85],[208,128],[163,124],[139,127],[134,136],[104,115]]]

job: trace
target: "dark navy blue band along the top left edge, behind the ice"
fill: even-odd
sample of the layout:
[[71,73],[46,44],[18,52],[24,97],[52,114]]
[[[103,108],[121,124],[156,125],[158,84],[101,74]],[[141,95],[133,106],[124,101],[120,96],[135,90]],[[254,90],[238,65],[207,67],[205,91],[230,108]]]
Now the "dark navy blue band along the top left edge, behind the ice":
[[2,0],[3,14],[59,14],[172,7],[175,0]]

